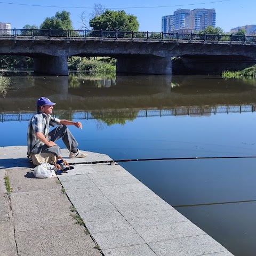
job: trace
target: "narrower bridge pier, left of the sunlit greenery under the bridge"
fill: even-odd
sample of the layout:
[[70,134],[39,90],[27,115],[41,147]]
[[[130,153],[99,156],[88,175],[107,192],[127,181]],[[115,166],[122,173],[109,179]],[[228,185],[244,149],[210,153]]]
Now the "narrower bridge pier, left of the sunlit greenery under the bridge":
[[68,59],[67,57],[57,57],[50,55],[35,57],[34,71],[35,73],[67,76]]

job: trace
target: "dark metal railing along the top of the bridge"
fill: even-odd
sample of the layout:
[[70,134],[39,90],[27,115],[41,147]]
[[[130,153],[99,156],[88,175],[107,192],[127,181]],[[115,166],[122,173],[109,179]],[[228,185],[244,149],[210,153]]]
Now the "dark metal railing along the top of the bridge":
[[56,30],[56,29],[0,29],[1,37],[66,37],[66,38],[109,38],[147,39],[167,41],[211,41],[211,42],[256,42],[256,36],[163,33],[148,31],[103,31],[103,30]]

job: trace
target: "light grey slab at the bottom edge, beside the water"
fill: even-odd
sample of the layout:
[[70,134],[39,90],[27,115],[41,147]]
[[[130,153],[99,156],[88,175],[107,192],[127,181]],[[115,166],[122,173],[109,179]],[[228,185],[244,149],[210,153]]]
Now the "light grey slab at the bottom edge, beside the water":
[[225,247],[206,234],[148,243],[148,245],[158,256],[198,256],[227,251]]

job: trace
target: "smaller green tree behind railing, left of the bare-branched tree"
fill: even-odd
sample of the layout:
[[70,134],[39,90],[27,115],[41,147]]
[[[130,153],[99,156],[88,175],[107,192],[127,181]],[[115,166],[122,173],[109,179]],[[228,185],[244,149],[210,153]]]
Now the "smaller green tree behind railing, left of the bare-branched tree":
[[55,16],[45,18],[40,29],[74,30],[69,15],[70,12],[57,12]]

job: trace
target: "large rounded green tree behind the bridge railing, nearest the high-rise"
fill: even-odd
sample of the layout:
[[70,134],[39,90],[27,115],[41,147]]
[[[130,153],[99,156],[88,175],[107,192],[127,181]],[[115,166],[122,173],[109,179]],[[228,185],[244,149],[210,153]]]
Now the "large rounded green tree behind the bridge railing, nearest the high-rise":
[[90,27],[93,30],[105,30],[105,31],[138,31],[139,22],[137,17],[126,14],[122,11],[111,11],[107,9],[98,17],[94,17],[89,21]]

